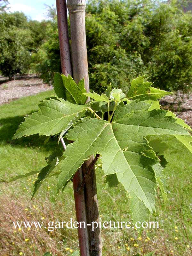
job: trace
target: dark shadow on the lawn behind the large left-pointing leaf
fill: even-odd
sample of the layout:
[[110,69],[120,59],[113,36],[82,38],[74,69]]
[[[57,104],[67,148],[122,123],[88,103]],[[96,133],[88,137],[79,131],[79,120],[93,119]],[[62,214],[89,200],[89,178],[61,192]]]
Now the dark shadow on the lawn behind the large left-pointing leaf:
[[50,149],[50,146],[53,149],[58,147],[58,138],[54,138],[53,136],[46,144],[44,144],[44,140],[47,137],[39,136],[38,134],[12,140],[13,135],[24,120],[24,116],[14,116],[0,119],[0,143],[4,145],[10,144],[13,147],[41,147],[44,148],[44,150],[47,149],[47,151]]

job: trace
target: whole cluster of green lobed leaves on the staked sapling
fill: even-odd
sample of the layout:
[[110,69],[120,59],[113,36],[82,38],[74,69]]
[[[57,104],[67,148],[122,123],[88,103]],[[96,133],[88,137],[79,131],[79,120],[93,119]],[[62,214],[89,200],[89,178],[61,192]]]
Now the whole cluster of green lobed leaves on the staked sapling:
[[[157,187],[164,201],[167,199],[163,171],[166,160],[162,154],[166,145],[158,139],[149,141],[149,136],[175,136],[192,153],[192,129],[171,111],[162,109],[159,103],[159,99],[172,92],[154,88],[152,84],[145,76],[139,76],[132,80],[127,95],[121,89],[112,89],[111,85],[99,95],[86,93],[84,79],[77,85],[71,76],[55,73],[57,96],[41,101],[38,112],[25,117],[13,139],[36,133],[54,135],[65,150],[57,150],[46,158],[47,165],[41,171],[17,176],[14,180],[38,172],[33,197],[42,182],[54,174],[58,176],[59,192],[73,180],[84,161],[95,156],[86,174],[100,159],[107,185],[121,183],[130,198],[133,222],[148,221],[150,214],[156,212]],[[87,97],[91,100],[85,103]],[[86,183],[86,174],[79,191]]]

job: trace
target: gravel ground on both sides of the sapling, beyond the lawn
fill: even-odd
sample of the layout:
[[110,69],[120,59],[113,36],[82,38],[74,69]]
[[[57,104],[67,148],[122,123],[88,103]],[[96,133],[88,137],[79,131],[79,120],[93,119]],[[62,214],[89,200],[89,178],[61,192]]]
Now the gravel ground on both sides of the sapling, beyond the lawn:
[[[16,76],[16,79],[12,81],[0,76],[0,105],[52,88],[52,86],[44,84],[35,75]],[[173,111],[178,117],[192,126],[192,93],[183,94],[178,92],[174,95],[166,96],[161,100],[161,105],[164,109]]]

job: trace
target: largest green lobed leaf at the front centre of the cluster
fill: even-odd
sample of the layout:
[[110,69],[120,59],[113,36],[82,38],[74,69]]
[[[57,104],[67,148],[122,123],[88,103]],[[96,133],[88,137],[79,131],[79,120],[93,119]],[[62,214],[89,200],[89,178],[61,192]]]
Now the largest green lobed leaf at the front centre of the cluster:
[[[187,135],[188,132],[167,111],[148,111],[149,104],[132,101],[119,105],[112,123],[96,118],[83,118],[68,132],[68,144],[56,171],[58,190],[65,186],[84,160],[98,153],[102,156],[105,175],[116,173],[125,190],[143,201],[151,213],[155,212],[156,179],[152,165],[159,159],[144,138],[148,135]],[[73,164],[71,164],[73,163]]]

